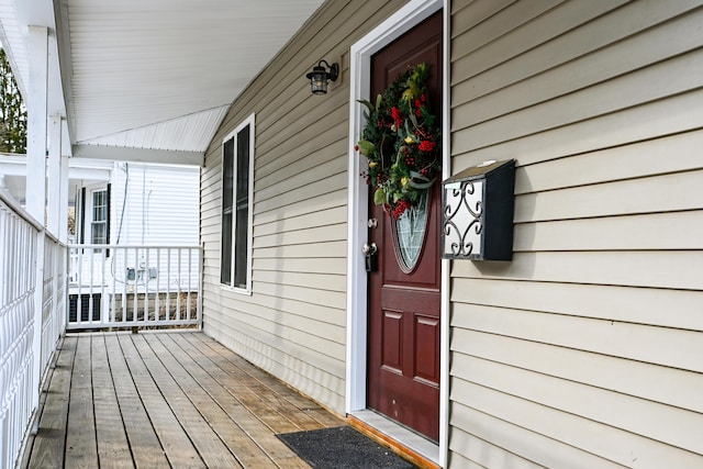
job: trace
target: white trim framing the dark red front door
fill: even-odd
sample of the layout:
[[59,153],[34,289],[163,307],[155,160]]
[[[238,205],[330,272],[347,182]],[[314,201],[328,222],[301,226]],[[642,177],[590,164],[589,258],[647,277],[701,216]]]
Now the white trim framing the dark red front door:
[[[383,23],[359,40],[350,49],[349,97],[349,170],[348,170],[348,247],[347,247],[347,350],[346,350],[346,413],[366,410],[367,382],[367,273],[361,246],[367,242],[368,188],[359,176],[364,170],[364,158],[354,150],[354,145],[364,126],[359,99],[368,99],[370,92],[371,55],[410,31],[423,20],[444,7],[444,85],[443,85],[443,176],[449,172],[449,60],[447,47],[448,0],[411,0]],[[439,380],[439,466],[445,466],[448,448],[449,409],[449,277],[448,263],[442,264],[442,337]],[[402,443],[402,442],[401,442]],[[411,447],[411,449],[413,449]]]

